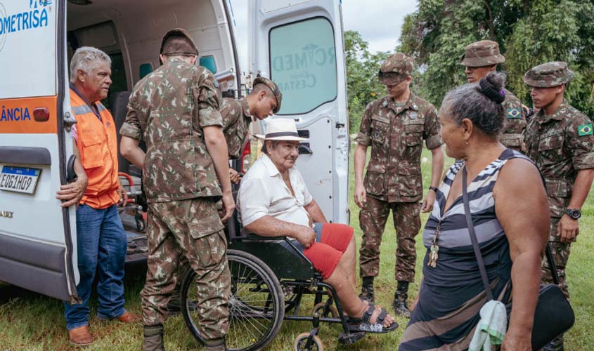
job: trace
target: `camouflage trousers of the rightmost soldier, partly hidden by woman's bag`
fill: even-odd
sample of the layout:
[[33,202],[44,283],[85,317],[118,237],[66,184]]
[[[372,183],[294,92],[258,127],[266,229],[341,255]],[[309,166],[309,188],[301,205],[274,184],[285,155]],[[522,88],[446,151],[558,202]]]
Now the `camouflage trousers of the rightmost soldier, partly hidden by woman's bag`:
[[[557,237],[557,224],[561,218],[550,218],[550,236],[548,244],[550,251],[553,253],[553,262],[557,266],[557,275],[559,276],[559,287],[563,291],[564,296],[569,300],[569,288],[567,287],[567,281],[565,279],[565,267],[567,267],[567,261],[569,260],[569,251],[571,250],[572,243],[561,242]],[[544,284],[553,284],[553,275],[550,272],[548,260],[546,256],[543,257],[541,265],[541,281]]]

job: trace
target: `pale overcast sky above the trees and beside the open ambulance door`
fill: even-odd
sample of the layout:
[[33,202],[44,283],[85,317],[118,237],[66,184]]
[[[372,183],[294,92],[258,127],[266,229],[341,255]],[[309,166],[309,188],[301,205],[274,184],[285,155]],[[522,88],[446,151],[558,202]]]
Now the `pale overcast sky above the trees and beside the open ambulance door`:
[[[235,39],[240,67],[247,69],[250,43],[247,27],[248,0],[228,0],[235,18]],[[417,8],[417,0],[342,0],[344,30],[355,30],[369,43],[369,51],[394,51],[404,16]]]

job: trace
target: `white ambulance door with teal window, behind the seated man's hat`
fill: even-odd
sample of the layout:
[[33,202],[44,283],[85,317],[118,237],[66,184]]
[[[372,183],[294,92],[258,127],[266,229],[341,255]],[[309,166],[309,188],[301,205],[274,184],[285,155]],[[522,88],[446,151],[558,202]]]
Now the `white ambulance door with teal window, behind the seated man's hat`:
[[[280,111],[309,138],[297,168],[325,217],[349,223],[347,82],[339,0],[250,1],[250,72],[278,84]],[[266,122],[262,123],[266,130]]]

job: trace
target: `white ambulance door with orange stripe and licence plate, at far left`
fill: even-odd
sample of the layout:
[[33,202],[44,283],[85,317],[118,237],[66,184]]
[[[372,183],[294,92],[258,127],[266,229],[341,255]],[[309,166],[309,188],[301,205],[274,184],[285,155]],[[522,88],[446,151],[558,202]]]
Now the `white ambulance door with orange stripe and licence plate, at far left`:
[[56,199],[74,121],[65,10],[65,0],[0,0],[0,281],[75,301],[75,208]]

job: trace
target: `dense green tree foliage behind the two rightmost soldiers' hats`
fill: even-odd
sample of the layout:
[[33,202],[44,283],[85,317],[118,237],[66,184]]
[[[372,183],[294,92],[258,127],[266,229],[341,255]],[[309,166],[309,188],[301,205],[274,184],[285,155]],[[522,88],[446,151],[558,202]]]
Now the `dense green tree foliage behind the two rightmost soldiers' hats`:
[[435,105],[465,83],[458,60],[473,41],[497,41],[508,88],[531,105],[522,81],[528,69],[562,60],[576,76],[566,97],[594,114],[594,0],[419,0],[407,15],[398,50],[420,66],[417,90]]

